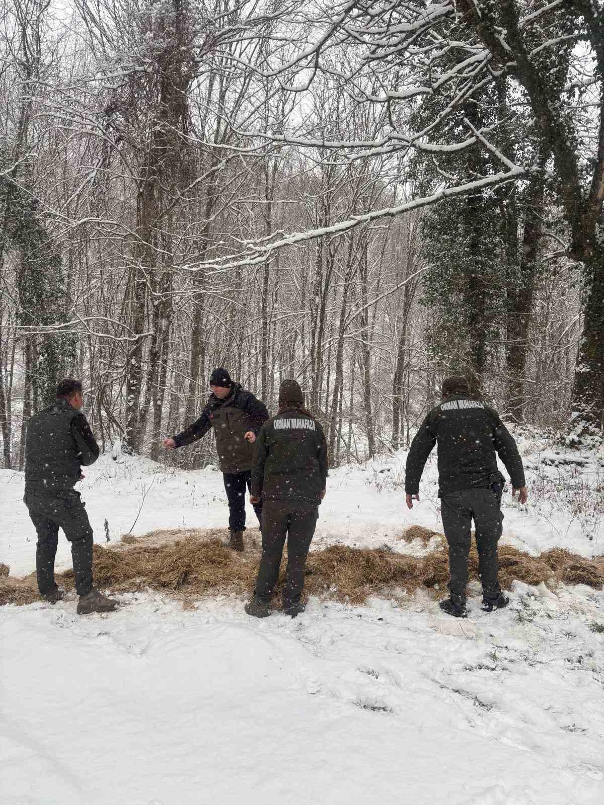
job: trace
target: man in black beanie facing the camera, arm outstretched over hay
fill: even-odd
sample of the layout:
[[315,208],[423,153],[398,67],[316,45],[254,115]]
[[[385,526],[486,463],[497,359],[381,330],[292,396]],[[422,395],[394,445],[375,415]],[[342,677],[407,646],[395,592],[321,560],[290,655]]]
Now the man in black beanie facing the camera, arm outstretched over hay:
[[[243,550],[243,531],[246,530],[246,486],[250,489],[254,442],[260,428],[268,419],[267,407],[251,391],[234,383],[226,369],[219,366],[209,378],[212,394],[196,422],[177,436],[163,440],[165,448],[181,448],[202,439],[214,429],[220,469],[229,500],[229,547]],[[254,511],[262,518],[262,502],[254,503]]]

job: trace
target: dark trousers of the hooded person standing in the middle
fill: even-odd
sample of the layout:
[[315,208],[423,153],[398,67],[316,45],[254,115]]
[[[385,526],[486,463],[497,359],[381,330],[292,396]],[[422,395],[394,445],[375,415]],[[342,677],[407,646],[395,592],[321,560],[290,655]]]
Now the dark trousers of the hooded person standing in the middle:
[[263,555],[256,580],[256,597],[267,604],[277,579],[285,539],[288,539],[288,568],[285,572],[283,606],[300,603],[308,548],[315,533],[316,506],[296,501],[263,503]]

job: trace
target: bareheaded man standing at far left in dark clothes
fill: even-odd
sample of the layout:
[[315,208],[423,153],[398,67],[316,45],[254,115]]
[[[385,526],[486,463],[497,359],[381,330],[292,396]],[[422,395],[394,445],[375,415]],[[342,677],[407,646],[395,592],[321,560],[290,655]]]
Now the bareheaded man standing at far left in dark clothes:
[[94,464],[99,449],[85,415],[81,382],[67,378],[56,403],[32,416],[25,440],[25,496],[38,534],[35,567],[40,595],[50,604],[63,597],[55,581],[59,528],[72,543],[73,572],[80,599],[77,612],[111,612],[117,601],[93,587],[93,530],[80,493],[81,466]]

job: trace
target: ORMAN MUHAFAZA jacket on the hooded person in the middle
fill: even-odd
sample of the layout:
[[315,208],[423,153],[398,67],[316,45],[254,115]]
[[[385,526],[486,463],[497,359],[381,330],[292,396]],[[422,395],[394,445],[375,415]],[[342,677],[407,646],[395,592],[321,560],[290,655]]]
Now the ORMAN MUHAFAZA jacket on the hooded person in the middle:
[[318,506],[327,467],[321,423],[296,408],[281,411],[263,425],[256,440],[251,493]]

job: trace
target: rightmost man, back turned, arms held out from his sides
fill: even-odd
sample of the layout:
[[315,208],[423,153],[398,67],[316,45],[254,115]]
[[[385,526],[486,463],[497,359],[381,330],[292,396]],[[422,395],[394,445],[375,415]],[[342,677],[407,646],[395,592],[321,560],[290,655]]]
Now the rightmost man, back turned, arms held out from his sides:
[[420,499],[420,477],[432,448],[438,444],[438,494],[441,516],[449,544],[449,591],[441,609],[466,617],[465,585],[468,580],[470,528],[474,519],[478,574],[482,582],[482,609],[492,612],[507,606],[509,599],[499,587],[497,544],[502,535],[501,497],[505,479],[497,458],[510,474],[513,493],[527,501],[522,459],[516,443],[499,414],[470,396],[465,378],[448,378],[442,387],[443,401],[421,424],[407,456],[405,492],[407,507]]

